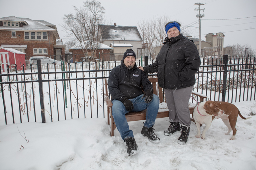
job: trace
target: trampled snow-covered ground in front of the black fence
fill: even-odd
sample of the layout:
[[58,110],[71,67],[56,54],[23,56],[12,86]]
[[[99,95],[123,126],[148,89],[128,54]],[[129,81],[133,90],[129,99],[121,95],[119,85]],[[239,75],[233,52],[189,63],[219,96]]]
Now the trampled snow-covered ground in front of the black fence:
[[[248,117],[255,101],[233,104]],[[152,143],[140,134],[143,121],[129,122],[129,125],[139,151],[130,157],[119,132],[115,130],[115,136],[110,136],[106,118],[2,125],[0,169],[256,169],[256,116],[248,120],[238,117],[236,140],[229,140],[231,134],[224,135],[228,129],[222,120],[213,121],[205,140],[195,138],[197,130],[191,122],[186,145],[176,142],[179,133],[163,135],[169,126],[168,118],[157,119],[155,123],[160,143]]]

